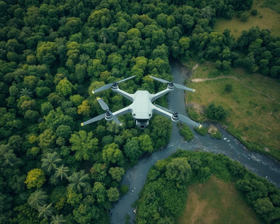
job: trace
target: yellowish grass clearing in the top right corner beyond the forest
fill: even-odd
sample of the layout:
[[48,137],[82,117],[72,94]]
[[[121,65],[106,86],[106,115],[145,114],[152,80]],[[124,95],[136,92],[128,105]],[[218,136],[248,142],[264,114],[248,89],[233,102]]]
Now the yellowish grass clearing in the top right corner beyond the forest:
[[[253,1],[253,6],[248,10],[250,17],[246,22],[242,22],[240,18],[237,18],[237,12],[235,12],[232,19],[217,18],[214,29],[220,32],[223,32],[225,29],[230,29],[231,34],[235,38],[239,37],[243,30],[249,30],[251,27],[256,26],[259,26],[260,29],[269,29],[272,34],[280,35],[280,14],[270,8],[260,7],[263,2],[260,0]],[[256,16],[251,15],[253,9],[257,9],[259,14]],[[260,18],[260,15],[262,15],[262,18]]]

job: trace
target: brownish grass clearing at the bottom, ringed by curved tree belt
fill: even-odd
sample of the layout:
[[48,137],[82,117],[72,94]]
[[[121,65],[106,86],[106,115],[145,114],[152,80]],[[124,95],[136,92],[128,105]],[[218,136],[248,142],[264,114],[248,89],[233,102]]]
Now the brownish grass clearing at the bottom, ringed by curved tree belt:
[[234,183],[224,183],[214,176],[209,182],[188,187],[185,213],[179,224],[262,223],[242,199]]

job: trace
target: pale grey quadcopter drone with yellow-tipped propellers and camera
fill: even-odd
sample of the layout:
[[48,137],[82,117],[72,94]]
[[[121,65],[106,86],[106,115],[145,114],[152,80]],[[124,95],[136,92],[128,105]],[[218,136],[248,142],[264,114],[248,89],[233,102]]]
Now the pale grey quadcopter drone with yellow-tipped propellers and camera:
[[194,89],[191,89],[191,88],[188,88],[183,85],[176,84],[176,83],[172,83],[172,82],[169,82],[169,81],[161,79],[161,78],[156,78],[153,76],[150,76],[150,78],[153,78],[162,83],[168,83],[167,88],[156,94],[150,94],[147,90],[137,90],[134,94],[129,94],[129,93],[121,90],[118,87],[118,83],[121,83],[123,81],[126,81],[126,80],[134,78],[134,77],[135,76],[131,76],[131,77],[122,79],[120,81],[116,81],[114,83],[109,83],[107,85],[104,85],[104,86],[98,88],[97,90],[92,91],[93,94],[96,94],[97,92],[111,88],[111,90],[113,92],[117,92],[120,95],[122,95],[125,98],[132,101],[132,104],[112,113],[109,110],[108,105],[100,97],[97,97],[98,103],[100,104],[101,108],[104,111],[106,111],[106,113],[103,113],[101,115],[98,115],[95,118],[91,118],[90,120],[87,120],[87,121],[81,123],[81,126],[88,125],[92,122],[101,120],[102,118],[105,118],[107,121],[114,120],[118,125],[122,125],[122,122],[120,122],[120,120],[117,117],[127,114],[127,113],[131,113],[132,117],[136,123],[136,126],[143,129],[149,125],[149,121],[152,118],[153,113],[156,113],[156,114],[162,115],[164,117],[171,118],[171,120],[173,122],[178,122],[179,120],[181,120],[184,123],[187,123],[187,124],[199,127],[199,128],[202,127],[201,124],[191,120],[190,118],[188,118],[184,115],[170,111],[167,108],[164,108],[157,104],[153,104],[153,101],[155,101],[159,97],[167,94],[168,92],[173,91],[174,88],[183,89],[183,90],[187,90],[187,91],[191,91],[191,92],[194,92],[195,91]]

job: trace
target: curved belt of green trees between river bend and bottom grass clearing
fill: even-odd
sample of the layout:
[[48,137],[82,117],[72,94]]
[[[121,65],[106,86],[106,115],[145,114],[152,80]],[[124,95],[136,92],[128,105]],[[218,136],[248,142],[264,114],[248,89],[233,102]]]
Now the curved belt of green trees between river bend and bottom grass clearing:
[[264,223],[280,223],[280,190],[222,154],[177,150],[151,167],[136,201],[137,224],[173,224],[185,211],[188,185],[211,175],[235,182],[237,190]]

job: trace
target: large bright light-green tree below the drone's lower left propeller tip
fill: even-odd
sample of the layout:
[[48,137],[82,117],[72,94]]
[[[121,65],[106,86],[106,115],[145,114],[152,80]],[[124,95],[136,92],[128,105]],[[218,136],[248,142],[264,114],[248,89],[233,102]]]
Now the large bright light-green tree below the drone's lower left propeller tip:
[[92,136],[92,132],[87,133],[84,130],[71,134],[69,141],[72,144],[71,150],[76,151],[76,160],[89,160],[94,155],[95,150],[98,149],[98,139],[92,138]]

